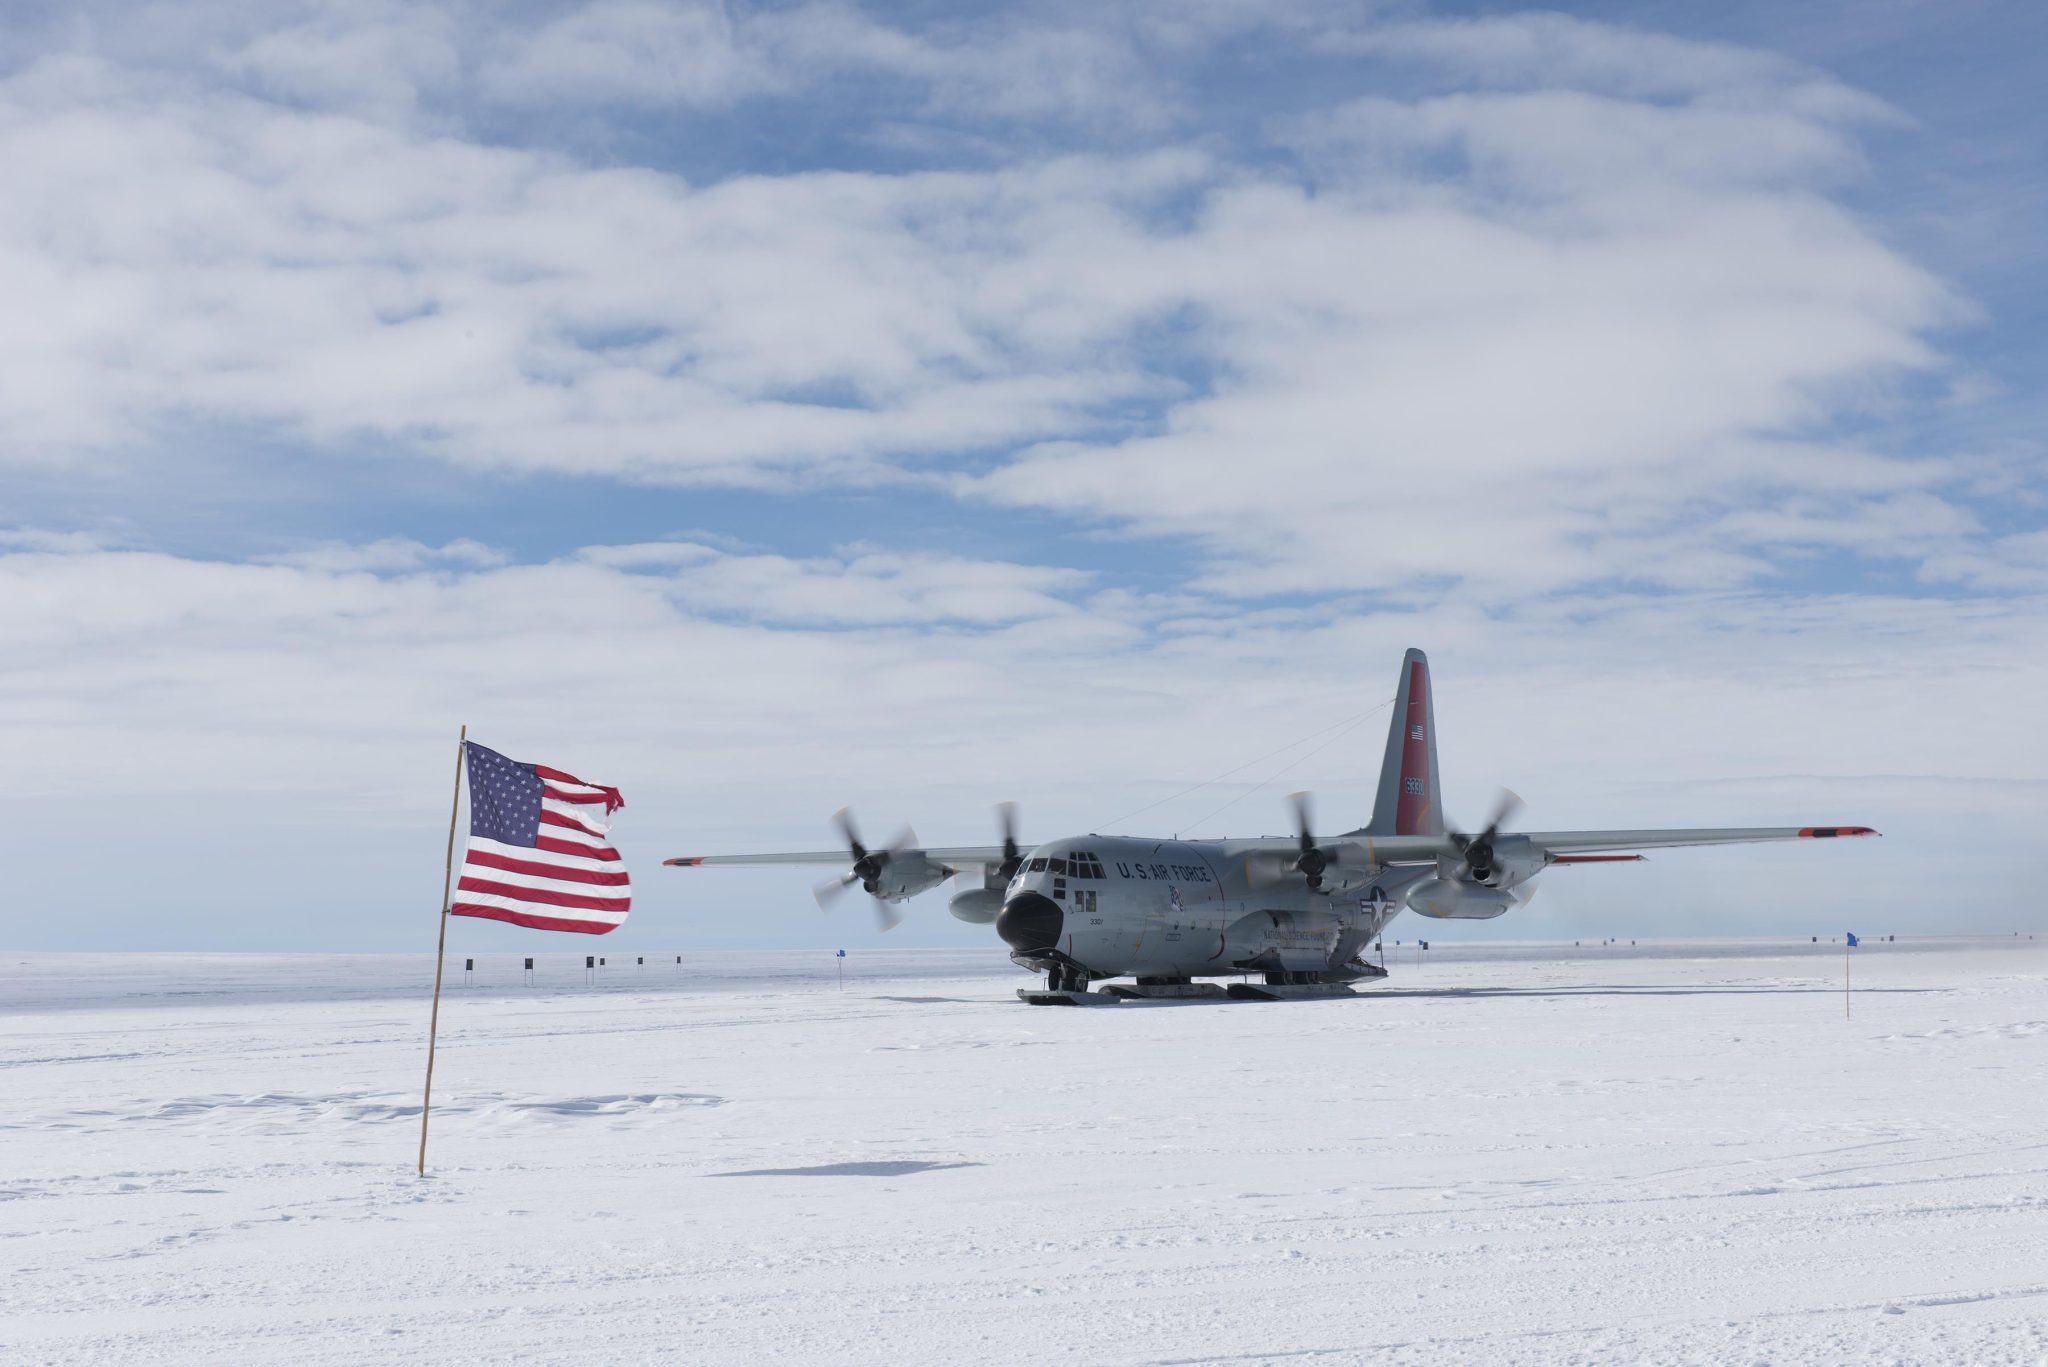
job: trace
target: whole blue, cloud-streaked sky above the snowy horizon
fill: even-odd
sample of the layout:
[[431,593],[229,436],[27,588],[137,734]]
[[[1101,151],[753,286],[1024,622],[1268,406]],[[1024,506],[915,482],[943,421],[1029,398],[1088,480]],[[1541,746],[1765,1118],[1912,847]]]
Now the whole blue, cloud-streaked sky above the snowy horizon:
[[[426,949],[455,734],[670,855],[1870,824],[1438,939],[2042,928],[2025,4],[10,6],[10,949]],[[1198,787],[1200,785],[1200,787]],[[1194,789],[1194,791],[1188,791]],[[887,945],[1001,947],[909,904]]]

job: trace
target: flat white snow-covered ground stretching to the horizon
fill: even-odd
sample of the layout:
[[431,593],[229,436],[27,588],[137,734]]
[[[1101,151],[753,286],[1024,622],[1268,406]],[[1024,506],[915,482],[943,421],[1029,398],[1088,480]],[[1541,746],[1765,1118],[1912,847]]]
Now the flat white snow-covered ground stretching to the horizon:
[[4,955],[0,1361],[2044,1361],[2048,937],[1841,957],[457,957],[420,1180],[430,963]]

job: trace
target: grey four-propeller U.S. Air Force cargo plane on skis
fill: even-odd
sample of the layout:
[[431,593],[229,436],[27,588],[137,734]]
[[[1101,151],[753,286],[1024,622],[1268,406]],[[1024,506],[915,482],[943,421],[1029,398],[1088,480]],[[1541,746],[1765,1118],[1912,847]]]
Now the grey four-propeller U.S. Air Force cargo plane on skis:
[[[666,863],[842,865],[817,887],[819,906],[856,883],[883,930],[897,904],[958,879],[950,910],[991,924],[1010,957],[1047,976],[1020,990],[1034,1004],[1122,998],[1348,994],[1382,978],[1366,951],[1403,910],[1438,920],[1487,920],[1534,896],[1552,865],[1642,859],[1642,851],[1759,840],[1874,836],[1868,826],[1735,826],[1706,830],[1528,830],[1503,824],[1520,801],[1501,793],[1479,832],[1450,828],[1436,771],[1430,660],[1409,650],[1386,730],[1372,820],[1331,838],[1313,832],[1307,793],[1294,793],[1296,834],[1255,840],[1067,836],[1024,848],[1016,810],[997,807],[1001,844],[920,848],[905,832],[887,846],[860,842],[836,816],[844,851],[686,855]],[[1094,982],[1122,980],[1106,990]],[[1231,978],[1227,988],[1214,982]]]

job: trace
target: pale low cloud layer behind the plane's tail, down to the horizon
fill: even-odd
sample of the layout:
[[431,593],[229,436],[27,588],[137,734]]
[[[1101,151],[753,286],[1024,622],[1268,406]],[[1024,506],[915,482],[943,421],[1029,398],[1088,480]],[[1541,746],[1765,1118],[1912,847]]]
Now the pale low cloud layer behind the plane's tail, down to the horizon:
[[[1968,885],[1972,906],[2003,916],[2021,889],[1985,885],[1980,851],[2023,842],[2044,816],[2044,793],[2015,783],[2042,773],[2048,742],[2013,726],[2048,689],[2038,598],[1958,611],[1733,592],[1575,598],[1509,617],[1190,621],[1180,605],[1098,596],[1001,562],[852,551],[834,574],[745,555],[674,572],[604,560],[633,557],[600,547],[373,574],[340,557],[0,555],[0,746],[16,791],[35,795],[10,799],[16,896],[0,926],[29,943],[51,916],[90,910],[123,933],[205,935],[205,908],[283,898],[293,918],[342,916],[346,933],[322,933],[336,943],[403,943],[414,916],[391,889],[436,871],[457,721],[625,789],[618,834],[645,871],[637,914],[659,943],[713,922],[707,894],[662,881],[653,857],[809,848],[840,801],[874,826],[911,818],[928,840],[975,842],[987,803],[1018,797],[1028,832],[1049,838],[1114,828],[1120,812],[1278,750],[1135,830],[1274,832],[1292,787],[1315,787],[1335,828],[1370,807],[1384,734],[1372,709],[1411,644],[1436,664],[1454,814],[1511,781],[1536,826],[1860,820],[1888,832],[1855,865],[1737,853],[1661,861],[1624,889],[1573,879],[1550,889],[1556,914],[1690,906],[1704,879],[1729,924],[1778,924],[1778,879],[1833,877],[1901,924],[1925,924],[1929,885]],[[1317,748],[1317,732],[1358,713]],[[1870,773],[1919,779],[1858,779]],[[1241,801],[1196,826],[1231,797]],[[1972,826],[1980,844],[1950,838]],[[80,832],[104,832],[119,853],[96,861],[90,887],[76,863],[49,857]],[[268,873],[221,887],[207,869],[238,842],[240,867],[297,892]],[[307,883],[279,861],[326,873]],[[809,906],[801,885],[778,887],[713,896]],[[928,928],[934,916],[920,904]],[[313,930],[266,935],[303,943]]]

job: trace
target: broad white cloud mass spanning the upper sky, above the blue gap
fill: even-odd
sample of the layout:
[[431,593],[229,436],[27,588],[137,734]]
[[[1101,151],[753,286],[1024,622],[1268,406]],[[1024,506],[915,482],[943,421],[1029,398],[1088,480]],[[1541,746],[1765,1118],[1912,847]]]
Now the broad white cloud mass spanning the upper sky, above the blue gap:
[[993,70],[1085,102],[1044,64],[1178,98],[1145,23],[469,25],[315,8],[231,47],[256,92],[66,53],[0,82],[0,461],[119,465],[197,422],[475,471],[918,484],[1190,541],[1231,594],[1755,582],[1860,551],[1829,525],[1901,480],[1913,545],[1972,553],[1933,457],[1903,475],[1851,434],[1950,377],[1968,307],[1827,199],[1882,107],[1769,53],[1556,16],[1331,29],[1479,88],[1313,102],[1266,150],[1139,119],[1122,152],[711,184],[293,76],[414,80],[395,45],[489,98],[719,105],[831,64],[989,109]]

